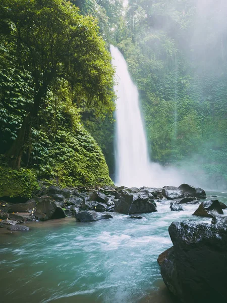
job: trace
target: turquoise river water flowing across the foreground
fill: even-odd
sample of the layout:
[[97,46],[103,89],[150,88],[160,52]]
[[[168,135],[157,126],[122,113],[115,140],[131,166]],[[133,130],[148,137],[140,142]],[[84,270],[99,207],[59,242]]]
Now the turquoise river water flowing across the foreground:
[[[227,193],[213,194],[227,203]],[[182,219],[211,221],[191,216],[198,206],[184,208],[171,212],[169,203],[158,204],[158,212],[142,220],[113,214],[91,223],[32,222],[25,233],[1,230],[1,302],[173,302],[156,261],[172,246],[168,226]]]

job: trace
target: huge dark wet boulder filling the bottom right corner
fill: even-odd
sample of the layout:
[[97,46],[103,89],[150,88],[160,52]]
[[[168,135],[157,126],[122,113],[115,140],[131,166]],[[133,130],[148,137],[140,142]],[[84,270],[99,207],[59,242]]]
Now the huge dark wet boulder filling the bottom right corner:
[[161,262],[167,288],[183,303],[224,303],[227,297],[227,226],[173,222],[174,244]]

